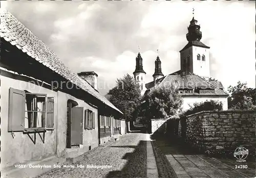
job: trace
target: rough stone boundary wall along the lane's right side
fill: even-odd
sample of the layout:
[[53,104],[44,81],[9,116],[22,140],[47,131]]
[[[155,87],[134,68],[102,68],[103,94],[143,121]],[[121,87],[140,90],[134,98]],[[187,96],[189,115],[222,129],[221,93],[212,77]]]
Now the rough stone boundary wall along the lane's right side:
[[[179,136],[199,150],[234,151],[238,146],[255,155],[255,111],[202,111],[179,123]],[[182,130],[185,134],[182,135]]]

